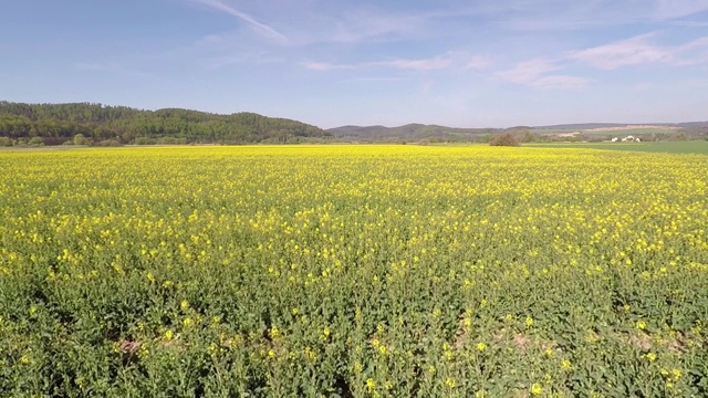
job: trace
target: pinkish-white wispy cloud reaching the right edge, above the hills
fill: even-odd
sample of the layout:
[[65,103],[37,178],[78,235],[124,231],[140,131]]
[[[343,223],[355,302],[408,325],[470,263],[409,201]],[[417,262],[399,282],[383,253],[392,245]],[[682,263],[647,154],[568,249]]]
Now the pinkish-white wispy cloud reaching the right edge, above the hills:
[[681,45],[660,46],[649,41],[654,35],[653,33],[643,34],[585,50],[571,51],[568,57],[603,70],[614,70],[653,63],[674,66],[690,65],[705,62],[708,55],[705,53],[708,49],[708,36]]

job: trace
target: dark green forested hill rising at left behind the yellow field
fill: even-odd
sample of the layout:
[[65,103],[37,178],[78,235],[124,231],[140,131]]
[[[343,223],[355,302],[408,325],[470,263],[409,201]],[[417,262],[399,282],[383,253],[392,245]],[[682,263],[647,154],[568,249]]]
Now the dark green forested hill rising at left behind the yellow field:
[[[218,115],[188,109],[142,111],[101,104],[21,104],[0,102],[0,137],[22,142],[41,137],[62,144],[77,134],[88,142],[290,143],[331,137],[323,129],[253,113]],[[35,139],[37,140],[37,139]]]

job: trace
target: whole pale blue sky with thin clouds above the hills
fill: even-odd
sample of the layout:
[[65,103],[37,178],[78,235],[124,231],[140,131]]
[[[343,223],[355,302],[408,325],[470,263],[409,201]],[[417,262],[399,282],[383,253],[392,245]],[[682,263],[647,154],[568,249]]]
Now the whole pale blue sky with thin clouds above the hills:
[[708,119],[708,0],[0,0],[0,100],[323,128]]

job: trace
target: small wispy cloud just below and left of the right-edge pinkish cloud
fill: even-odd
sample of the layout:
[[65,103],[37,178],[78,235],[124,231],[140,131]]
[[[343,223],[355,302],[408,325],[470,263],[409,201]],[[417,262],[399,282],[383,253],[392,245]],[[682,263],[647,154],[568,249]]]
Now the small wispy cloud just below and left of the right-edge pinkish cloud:
[[533,59],[519,62],[514,67],[500,71],[493,75],[503,81],[528,85],[537,88],[568,88],[579,90],[587,85],[584,77],[564,74],[551,74],[562,69],[556,62],[548,59]]

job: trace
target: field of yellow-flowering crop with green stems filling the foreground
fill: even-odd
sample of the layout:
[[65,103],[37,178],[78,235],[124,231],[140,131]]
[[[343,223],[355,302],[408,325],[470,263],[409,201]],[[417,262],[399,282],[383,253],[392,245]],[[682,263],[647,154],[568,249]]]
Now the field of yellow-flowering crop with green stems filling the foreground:
[[708,156],[0,151],[0,396],[708,396]]

